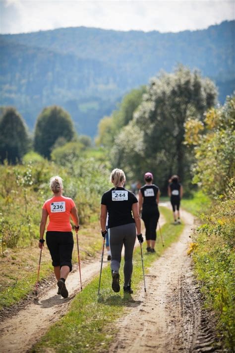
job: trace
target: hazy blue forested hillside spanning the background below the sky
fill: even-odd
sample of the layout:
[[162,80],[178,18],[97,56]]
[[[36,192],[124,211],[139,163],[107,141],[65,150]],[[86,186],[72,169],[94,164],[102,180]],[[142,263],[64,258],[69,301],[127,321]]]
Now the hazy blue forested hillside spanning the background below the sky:
[[120,97],[178,63],[235,89],[235,21],[206,30],[160,33],[95,28],[0,36],[0,105],[13,105],[30,129],[46,105],[65,108],[76,129],[94,136]]

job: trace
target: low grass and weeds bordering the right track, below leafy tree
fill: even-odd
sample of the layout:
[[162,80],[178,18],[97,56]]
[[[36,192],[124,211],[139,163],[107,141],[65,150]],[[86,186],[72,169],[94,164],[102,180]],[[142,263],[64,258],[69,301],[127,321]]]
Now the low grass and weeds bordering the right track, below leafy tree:
[[195,274],[201,283],[205,307],[217,318],[217,332],[229,352],[235,352],[235,203],[232,192],[213,203],[201,192],[182,206],[199,216],[194,236]]

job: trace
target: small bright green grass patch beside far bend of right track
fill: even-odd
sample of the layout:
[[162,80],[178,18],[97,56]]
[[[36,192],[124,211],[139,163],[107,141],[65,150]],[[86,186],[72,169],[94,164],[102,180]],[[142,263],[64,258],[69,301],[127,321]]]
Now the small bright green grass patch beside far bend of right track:
[[202,191],[193,193],[192,198],[182,199],[181,206],[186,211],[192,213],[196,217],[199,217],[201,213],[205,213],[211,206],[211,200],[208,196],[203,194]]

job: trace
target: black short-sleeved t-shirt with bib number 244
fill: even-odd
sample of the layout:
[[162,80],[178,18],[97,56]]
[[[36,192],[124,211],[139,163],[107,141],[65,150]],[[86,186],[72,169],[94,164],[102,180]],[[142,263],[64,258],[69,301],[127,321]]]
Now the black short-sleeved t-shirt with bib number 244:
[[106,205],[108,210],[108,228],[134,223],[131,209],[136,202],[138,202],[136,196],[125,188],[117,187],[106,191],[102,196],[101,204]]

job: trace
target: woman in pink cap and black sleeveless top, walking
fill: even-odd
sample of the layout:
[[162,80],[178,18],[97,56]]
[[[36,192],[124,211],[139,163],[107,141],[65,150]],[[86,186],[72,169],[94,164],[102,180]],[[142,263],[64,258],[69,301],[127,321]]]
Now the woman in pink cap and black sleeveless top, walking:
[[142,219],[145,225],[145,237],[147,252],[155,253],[155,242],[157,238],[157,225],[159,220],[159,187],[153,184],[153,174],[144,174],[145,185],[139,191],[139,212],[142,209]]

